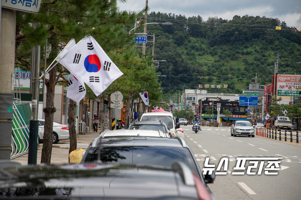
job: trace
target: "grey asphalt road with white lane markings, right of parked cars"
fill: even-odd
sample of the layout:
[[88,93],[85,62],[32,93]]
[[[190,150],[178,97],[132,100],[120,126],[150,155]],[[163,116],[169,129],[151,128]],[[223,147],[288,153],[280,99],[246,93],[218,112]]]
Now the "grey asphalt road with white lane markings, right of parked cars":
[[[228,160],[221,165],[220,172],[225,175],[216,175],[215,182],[209,184],[217,199],[300,199],[301,198],[301,145],[291,144],[260,136],[231,136],[230,127],[202,127],[202,131],[195,133],[192,125],[181,125],[184,129],[185,140],[192,148],[201,169],[204,168],[205,158],[209,164],[218,167],[221,158]],[[243,165],[244,170],[236,170],[237,157],[253,158],[255,163],[248,160]],[[267,159],[269,157],[282,157],[280,170],[276,175],[265,174]],[[262,162],[262,167],[260,163]],[[251,168],[251,167],[254,168]],[[275,166],[275,164],[272,164]],[[254,175],[248,175],[247,169]],[[225,168],[227,170],[225,170]],[[261,168],[261,174],[259,171]],[[243,175],[233,174],[243,172]]]

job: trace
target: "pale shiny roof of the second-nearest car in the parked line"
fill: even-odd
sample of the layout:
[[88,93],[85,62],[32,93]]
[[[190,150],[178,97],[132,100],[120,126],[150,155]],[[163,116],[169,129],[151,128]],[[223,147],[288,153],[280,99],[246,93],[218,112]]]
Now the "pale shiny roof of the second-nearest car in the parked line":
[[172,146],[187,147],[186,141],[182,137],[149,137],[149,136],[128,136],[128,137],[96,137],[90,144],[91,147],[98,145],[108,146]]

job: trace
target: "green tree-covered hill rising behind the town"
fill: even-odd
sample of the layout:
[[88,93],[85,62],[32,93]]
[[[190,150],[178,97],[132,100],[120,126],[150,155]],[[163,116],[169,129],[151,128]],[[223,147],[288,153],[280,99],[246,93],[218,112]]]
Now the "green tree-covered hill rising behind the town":
[[[277,52],[278,72],[301,72],[296,64],[301,61],[296,56],[301,54],[301,33],[279,19],[235,15],[232,20],[204,21],[201,16],[151,12],[147,22],[173,23],[147,25],[147,34],[156,38],[154,60],[167,60],[158,68],[164,93],[196,89],[199,84],[227,84],[227,88],[206,89],[240,93],[255,82],[256,72],[258,84],[270,84]],[[150,43],[146,52],[152,54]]]

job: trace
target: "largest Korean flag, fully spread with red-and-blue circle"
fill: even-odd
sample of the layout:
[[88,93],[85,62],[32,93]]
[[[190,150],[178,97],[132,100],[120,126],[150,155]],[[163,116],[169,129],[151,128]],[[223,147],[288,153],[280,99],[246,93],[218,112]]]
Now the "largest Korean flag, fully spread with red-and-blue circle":
[[84,37],[59,61],[98,96],[123,73],[92,37]]

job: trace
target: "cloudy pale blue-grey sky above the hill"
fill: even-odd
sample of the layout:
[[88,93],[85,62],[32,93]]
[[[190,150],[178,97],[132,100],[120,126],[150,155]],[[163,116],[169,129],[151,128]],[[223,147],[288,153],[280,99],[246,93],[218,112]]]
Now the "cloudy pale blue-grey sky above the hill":
[[[140,11],[146,0],[118,2],[120,10]],[[266,16],[285,21],[288,26],[301,26],[301,0],[148,0],[148,12],[232,19],[234,15]]]

